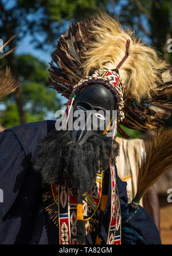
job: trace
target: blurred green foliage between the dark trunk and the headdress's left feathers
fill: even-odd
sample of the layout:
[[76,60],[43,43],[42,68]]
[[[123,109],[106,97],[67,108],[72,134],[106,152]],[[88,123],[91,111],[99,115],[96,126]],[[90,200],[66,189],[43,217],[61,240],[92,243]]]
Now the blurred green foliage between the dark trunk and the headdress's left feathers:
[[57,93],[49,88],[49,73],[45,63],[31,55],[19,55],[17,66],[24,81],[23,99],[30,114],[42,113],[45,116],[47,111],[57,111],[61,106],[60,100]]

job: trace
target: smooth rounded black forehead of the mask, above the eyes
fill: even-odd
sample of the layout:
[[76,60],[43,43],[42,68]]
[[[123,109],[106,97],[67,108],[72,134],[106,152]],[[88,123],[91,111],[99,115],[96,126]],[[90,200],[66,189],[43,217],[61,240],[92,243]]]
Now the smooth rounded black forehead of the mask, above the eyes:
[[109,89],[100,84],[85,88],[77,97],[75,106],[81,103],[88,103],[92,108],[96,107],[104,110],[114,110],[115,108],[114,96]]

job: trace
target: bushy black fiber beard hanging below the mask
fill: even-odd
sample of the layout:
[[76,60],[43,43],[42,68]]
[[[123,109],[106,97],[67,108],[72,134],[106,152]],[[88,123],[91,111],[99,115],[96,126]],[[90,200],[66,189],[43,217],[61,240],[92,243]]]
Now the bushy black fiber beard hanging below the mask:
[[[83,145],[72,142],[71,131],[51,131],[38,144],[41,147],[34,170],[41,174],[42,182],[64,185],[68,182],[72,193],[84,194],[102,167],[110,168],[111,156],[115,161],[119,144],[105,134],[93,134]],[[102,164],[102,165],[101,165]]]

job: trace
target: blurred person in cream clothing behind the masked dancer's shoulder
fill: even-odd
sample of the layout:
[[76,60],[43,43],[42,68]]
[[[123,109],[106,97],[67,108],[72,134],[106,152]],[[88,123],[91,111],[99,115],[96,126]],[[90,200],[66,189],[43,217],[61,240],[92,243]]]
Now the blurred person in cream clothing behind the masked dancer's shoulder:
[[[116,158],[116,167],[120,179],[127,182],[128,201],[131,202],[136,194],[138,163],[140,164],[145,154],[144,141],[140,139],[126,140],[120,137],[116,137],[116,141],[120,145],[120,153]],[[144,195],[140,205],[153,217],[158,230],[160,230],[159,201],[154,187],[151,187]]]

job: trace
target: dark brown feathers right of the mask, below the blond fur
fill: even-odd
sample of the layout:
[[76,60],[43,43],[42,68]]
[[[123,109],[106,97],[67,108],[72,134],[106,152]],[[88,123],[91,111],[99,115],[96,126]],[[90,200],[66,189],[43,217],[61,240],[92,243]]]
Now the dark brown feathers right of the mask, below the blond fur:
[[172,95],[172,66],[159,70],[161,84],[157,83],[157,92],[152,92],[150,101],[143,100],[135,103],[131,98],[124,104],[125,119],[122,125],[130,129],[158,129],[164,125],[164,121],[170,118],[172,103],[169,98]]

